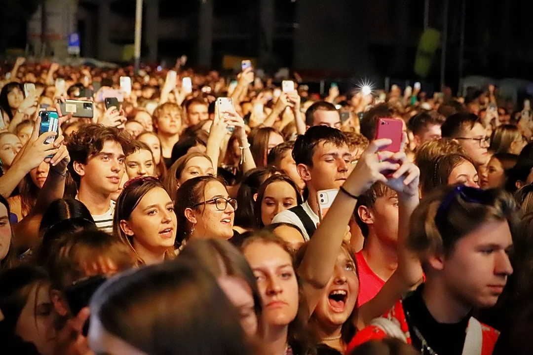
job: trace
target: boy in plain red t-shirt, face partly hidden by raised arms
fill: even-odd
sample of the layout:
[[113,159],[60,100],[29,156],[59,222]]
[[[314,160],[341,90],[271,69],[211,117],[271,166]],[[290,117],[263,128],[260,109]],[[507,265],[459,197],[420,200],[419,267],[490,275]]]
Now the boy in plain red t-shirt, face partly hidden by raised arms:
[[398,266],[398,194],[377,182],[359,196],[354,214],[365,237],[356,253],[360,307],[377,295]]

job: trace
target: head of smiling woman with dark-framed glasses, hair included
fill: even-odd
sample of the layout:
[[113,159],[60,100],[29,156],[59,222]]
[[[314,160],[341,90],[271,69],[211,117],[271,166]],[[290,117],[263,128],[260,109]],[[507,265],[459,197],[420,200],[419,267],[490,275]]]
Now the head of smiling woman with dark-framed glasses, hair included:
[[237,200],[230,199],[226,187],[213,176],[185,181],[176,192],[176,247],[191,238],[228,240],[234,234]]

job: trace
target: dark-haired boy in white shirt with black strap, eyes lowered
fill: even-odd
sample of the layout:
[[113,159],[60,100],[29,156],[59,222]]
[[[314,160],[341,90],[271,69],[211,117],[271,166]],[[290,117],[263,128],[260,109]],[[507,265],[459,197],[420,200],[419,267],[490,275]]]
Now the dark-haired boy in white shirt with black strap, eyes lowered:
[[348,177],[351,154],[344,134],[322,125],[311,127],[298,136],[293,158],[298,175],[305,181],[308,197],[302,205],[279,213],[272,223],[293,224],[302,230],[308,241],[319,222],[317,192],[342,186]]

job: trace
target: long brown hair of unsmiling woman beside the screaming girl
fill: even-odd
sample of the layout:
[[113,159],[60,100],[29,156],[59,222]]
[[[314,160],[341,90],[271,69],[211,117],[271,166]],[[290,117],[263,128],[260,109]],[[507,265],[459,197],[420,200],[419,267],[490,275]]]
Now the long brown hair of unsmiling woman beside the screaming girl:
[[267,230],[258,230],[254,233],[251,233],[244,240],[243,244],[240,247],[240,250],[244,253],[249,245],[257,242],[265,244],[276,244],[281,247],[281,249],[283,249],[285,252],[287,252],[287,254],[289,254],[289,257],[293,262],[292,267],[294,269],[296,280],[298,282],[298,299],[300,302],[298,302],[298,313],[296,314],[296,318],[292,322],[290,322],[288,327],[287,342],[292,347],[293,352],[295,354],[316,354],[314,340],[307,326],[309,311],[305,302],[305,296],[302,291],[301,280],[300,277],[298,277],[296,267],[294,266],[293,251],[290,249],[290,247],[284,240],[282,240],[277,235],[268,232]]

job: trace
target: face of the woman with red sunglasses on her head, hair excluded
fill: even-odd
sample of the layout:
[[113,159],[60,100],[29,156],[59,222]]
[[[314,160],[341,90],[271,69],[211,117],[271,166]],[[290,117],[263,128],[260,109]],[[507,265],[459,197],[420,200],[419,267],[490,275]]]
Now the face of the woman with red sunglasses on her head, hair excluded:
[[133,248],[164,253],[174,246],[176,214],[165,189],[152,188],[133,210],[130,219],[120,221],[123,232],[133,238]]

